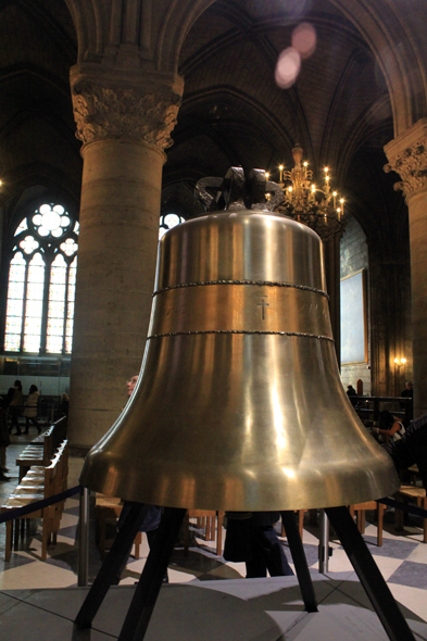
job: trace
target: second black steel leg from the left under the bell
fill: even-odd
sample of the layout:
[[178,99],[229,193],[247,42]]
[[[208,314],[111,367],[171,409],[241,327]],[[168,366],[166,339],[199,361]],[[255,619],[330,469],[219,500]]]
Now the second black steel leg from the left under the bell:
[[186,510],[165,507],[118,641],[145,638]]

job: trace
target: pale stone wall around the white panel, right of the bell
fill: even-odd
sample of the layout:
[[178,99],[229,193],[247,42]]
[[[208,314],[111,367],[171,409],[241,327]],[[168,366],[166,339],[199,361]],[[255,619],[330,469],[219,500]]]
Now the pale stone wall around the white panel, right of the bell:
[[[352,274],[366,269],[368,276],[368,251],[366,243],[366,236],[353,216],[349,216],[346,231],[342,235],[340,242],[340,278],[351,276]],[[366,304],[367,304],[367,336],[368,336],[368,356],[367,363],[355,363],[351,365],[341,365],[341,379],[342,385],[347,388],[348,385],[352,385],[356,389],[356,382],[359,379],[363,381],[363,393],[371,395],[372,392],[372,378],[371,378],[371,340],[369,340],[369,291],[368,291],[367,277],[365,282],[367,287],[366,291]]]

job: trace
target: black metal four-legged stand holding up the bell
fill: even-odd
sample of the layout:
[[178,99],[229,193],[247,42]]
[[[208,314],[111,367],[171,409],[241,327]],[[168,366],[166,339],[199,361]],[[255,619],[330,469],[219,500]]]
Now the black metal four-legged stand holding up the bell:
[[[114,582],[124,556],[129,553],[147,511],[143,505],[136,504],[131,507],[75,619],[77,627],[91,626],[110,586]],[[415,641],[348,508],[328,507],[326,513],[390,641]],[[145,638],[185,514],[184,508],[165,508],[118,641],[141,641]],[[307,612],[316,612],[316,598],[294,513],[282,512],[281,517],[305,608]]]

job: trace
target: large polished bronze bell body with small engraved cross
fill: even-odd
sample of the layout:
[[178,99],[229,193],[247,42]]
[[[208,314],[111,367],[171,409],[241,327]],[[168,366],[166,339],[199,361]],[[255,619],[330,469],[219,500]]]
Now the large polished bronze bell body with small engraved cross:
[[341,385],[314,231],[240,210],[162,238],[141,376],[80,482],[229,511],[346,505],[399,488]]

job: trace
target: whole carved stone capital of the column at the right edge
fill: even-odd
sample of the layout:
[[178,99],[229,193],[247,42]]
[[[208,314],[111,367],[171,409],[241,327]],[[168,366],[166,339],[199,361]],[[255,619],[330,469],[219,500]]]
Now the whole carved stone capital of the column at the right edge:
[[422,118],[402,136],[385,147],[389,163],[384,171],[397,172],[402,180],[394,189],[402,190],[405,198],[427,191],[427,118]]

